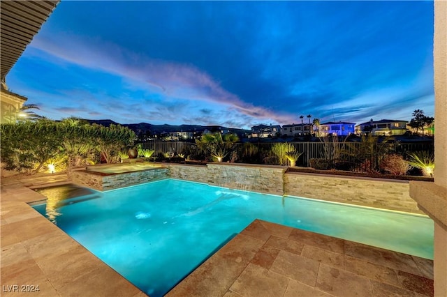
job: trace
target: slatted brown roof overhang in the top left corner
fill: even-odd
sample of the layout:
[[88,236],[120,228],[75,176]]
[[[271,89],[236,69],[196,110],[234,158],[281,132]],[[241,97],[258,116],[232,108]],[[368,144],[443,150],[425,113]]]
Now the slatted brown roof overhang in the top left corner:
[[59,1],[1,1],[1,82]]

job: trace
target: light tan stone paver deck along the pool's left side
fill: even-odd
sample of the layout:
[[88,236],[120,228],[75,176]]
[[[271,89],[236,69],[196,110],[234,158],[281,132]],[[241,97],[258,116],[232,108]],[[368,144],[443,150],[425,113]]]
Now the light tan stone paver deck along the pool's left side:
[[1,296],[147,296],[27,204],[45,197],[24,185],[66,181],[2,178]]

